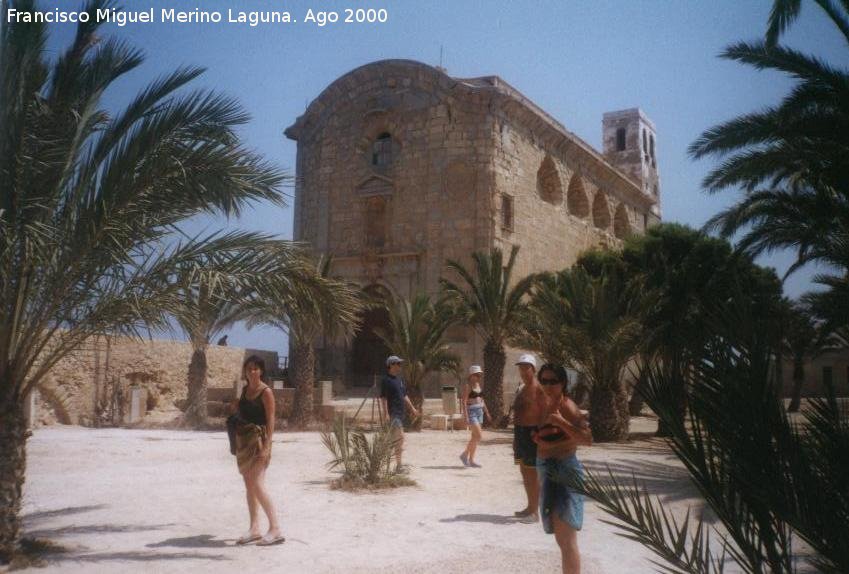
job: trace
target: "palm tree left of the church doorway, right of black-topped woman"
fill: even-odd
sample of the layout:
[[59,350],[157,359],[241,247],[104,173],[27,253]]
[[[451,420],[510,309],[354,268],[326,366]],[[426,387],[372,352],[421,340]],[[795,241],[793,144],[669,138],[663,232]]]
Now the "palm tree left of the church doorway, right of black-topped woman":
[[256,313],[248,321],[249,325],[273,325],[289,334],[289,375],[295,387],[289,423],[293,428],[307,428],[313,420],[316,339],[349,337],[359,324],[364,305],[356,287],[330,276],[331,264],[330,257],[311,263],[319,288],[258,301]]

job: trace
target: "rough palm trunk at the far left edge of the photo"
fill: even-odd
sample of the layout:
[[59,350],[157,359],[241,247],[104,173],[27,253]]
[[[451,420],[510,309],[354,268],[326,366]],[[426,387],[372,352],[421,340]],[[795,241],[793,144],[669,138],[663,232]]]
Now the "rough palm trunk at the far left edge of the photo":
[[23,402],[9,396],[0,404],[0,564],[18,550],[21,499],[27,458],[27,422]]

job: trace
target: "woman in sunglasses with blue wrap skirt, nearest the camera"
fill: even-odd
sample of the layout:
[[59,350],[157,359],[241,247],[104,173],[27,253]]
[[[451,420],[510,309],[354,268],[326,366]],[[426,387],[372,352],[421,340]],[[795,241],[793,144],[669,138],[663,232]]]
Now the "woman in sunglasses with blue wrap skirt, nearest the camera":
[[564,574],[577,574],[581,571],[578,531],[583,525],[584,500],[569,482],[583,477],[575,453],[579,445],[592,444],[592,433],[578,405],[566,396],[566,369],[547,363],[540,367],[537,378],[544,390],[546,413],[534,435],[542,525],[557,540]]

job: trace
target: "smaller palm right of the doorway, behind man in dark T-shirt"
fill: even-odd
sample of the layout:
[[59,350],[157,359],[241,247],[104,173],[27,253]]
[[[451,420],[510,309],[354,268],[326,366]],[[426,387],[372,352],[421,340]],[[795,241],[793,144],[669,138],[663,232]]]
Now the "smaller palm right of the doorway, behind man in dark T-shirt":
[[[404,378],[409,389],[410,400],[421,412],[424,394],[422,383],[431,373],[456,372],[460,359],[449,352],[445,332],[456,321],[456,310],[444,299],[431,301],[425,293],[418,293],[413,300],[389,300],[389,328],[378,329],[389,350],[404,358]],[[419,417],[414,427],[421,428]]]

